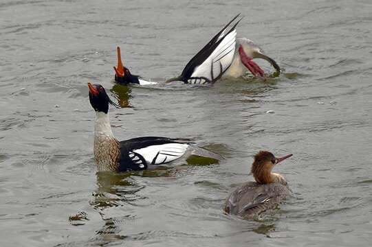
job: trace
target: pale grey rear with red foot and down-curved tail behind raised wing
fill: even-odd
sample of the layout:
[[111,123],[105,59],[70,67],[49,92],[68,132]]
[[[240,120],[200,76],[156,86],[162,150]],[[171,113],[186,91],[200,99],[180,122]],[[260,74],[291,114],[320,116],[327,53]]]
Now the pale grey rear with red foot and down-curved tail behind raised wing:
[[259,64],[253,61],[254,58],[262,58],[270,62],[276,69],[276,74],[281,73],[281,68],[274,59],[266,56],[263,50],[248,38],[237,38],[237,45],[234,53],[234,59],[230,68],[223,73],[223,78],[239,78],[245,75],[247,69],[257,78],[263,78],[263,69]]

